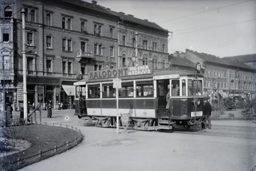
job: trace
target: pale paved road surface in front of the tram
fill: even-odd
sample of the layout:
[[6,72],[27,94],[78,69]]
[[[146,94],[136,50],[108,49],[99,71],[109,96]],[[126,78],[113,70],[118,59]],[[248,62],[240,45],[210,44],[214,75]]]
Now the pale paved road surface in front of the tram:
[[248,170],[256,163],[254,121],[212,121],[212,130],[170,132],[85,126],[73,111],[55,112],[48,124],[73,125],[84,133],[80,145],[21,170]]

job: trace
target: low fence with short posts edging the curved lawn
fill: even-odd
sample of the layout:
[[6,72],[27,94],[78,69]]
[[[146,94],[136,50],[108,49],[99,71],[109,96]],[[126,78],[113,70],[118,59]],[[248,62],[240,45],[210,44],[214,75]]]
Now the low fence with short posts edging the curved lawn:
[[[45,123],[45,125],[48,125],[48,124]],[[61,123],[59,125],[60,125],[60,127],[62,127]],[[53,123],[53,126],[57,126],[57,125],[55,123]],[[51,148],[50,150],[46,150],[46,151],[39,150],[39,152],[37,154],[33,154],[32,156],[26,157],[24,159],[20,159],[20,157],[17,157],[17,161],[10,161],[10,164],[17,163],[17,165],[19,165],[22,161],[26,161],[27,159],[30,159],[33,157],[43,157],[43,154],[45,154],[46,152],[51,152],[51,151],[54,151],[54,153],[51,154],[51,156],[53,156],[53,155],[57,154],[58,149],[66,146],[66,148],[64,150],[68,150],[70,148],[73,148],[75,145],[81,143],[84,140],[84,134],[82,134],[81,130],[78,130],[77,128],[73,128],[73,126],[68,126],[68,125],[66,125],[66,128],[71,128],[71,130],[75,130],[76,132],[79,132],[78,137],[75,137],[75,139],[73,139],[72,141],[66,141],[66,143],[64,143],[63,145],[59,145],[59,146],[55,145],[55,147]]]

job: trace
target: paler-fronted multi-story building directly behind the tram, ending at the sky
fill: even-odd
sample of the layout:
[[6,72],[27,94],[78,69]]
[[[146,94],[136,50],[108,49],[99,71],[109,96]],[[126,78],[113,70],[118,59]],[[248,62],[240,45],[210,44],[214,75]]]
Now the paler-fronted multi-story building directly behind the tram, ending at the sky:
[[168,30],[131,14],[113,14],[120,17],[116,61],[118,67],[152,65],[153,69],[163,69],[169,66]]

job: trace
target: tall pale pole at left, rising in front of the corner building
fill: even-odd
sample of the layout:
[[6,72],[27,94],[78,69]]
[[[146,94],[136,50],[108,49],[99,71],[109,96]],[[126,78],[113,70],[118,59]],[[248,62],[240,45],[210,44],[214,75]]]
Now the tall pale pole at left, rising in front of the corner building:
[[26,77],[26,30],[25,30],[25,8],[22,8],[22,61],[23,61],[23,111],[25,124],[28,123],[28,97]]

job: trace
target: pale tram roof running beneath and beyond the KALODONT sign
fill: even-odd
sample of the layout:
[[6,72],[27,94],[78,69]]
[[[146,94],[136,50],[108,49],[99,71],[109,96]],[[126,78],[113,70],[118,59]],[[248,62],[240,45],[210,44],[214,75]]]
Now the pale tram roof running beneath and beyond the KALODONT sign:
[[[126,77],[118,77],[122,80],[129,80],[129,79],[152,79],[155,76],[165,76],[165,75],[174,75],[179,74],[179,77],[203,77],[202,74],[194,73],[192,71],[181,71],[181,70],[154,70],[152,74],[141,74],[141,75],[132,75],[132,76],[126,76]],[[104,81],[113,81],[113,77],[111,78],[105,78],[105,79],[89,79],[86,77],[85,79],[82,79],[80,81],[77,81],[74,83],[75,86],[82,86],[86,83],[100,83]]]

